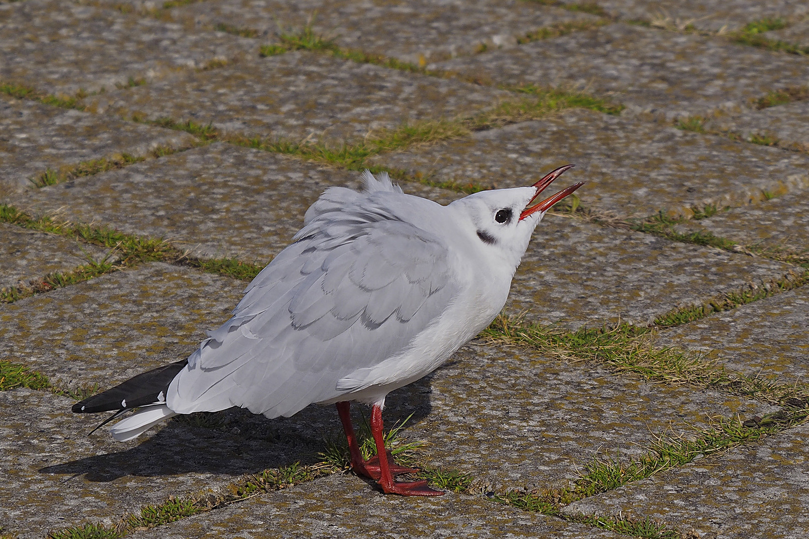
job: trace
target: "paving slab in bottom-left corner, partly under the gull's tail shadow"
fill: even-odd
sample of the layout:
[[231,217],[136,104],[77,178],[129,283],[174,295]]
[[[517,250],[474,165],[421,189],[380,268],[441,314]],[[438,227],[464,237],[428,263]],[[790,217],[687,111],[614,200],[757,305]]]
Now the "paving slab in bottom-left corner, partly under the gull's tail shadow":
[[[0,523],[19,539],[87,520],[117,524],[144,505],[218,491],[243,474],[311,461],[320,446],[244,436],[172,419],[132,442],[116,442],[101,415],[70,412],[74,401],[27,389],[0,392]],[[280,432],[280,436],[278,435]]]

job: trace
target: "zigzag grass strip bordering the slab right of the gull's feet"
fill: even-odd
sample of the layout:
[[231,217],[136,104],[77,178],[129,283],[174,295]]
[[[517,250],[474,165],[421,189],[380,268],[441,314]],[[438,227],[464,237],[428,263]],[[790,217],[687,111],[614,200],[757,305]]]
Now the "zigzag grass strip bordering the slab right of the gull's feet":
[[698,353],[676,348],[656,349],[647,340],[651,331],[650,328],[619,324],[612,329],[582,328],[567,332],[501,315],[479,338],[486,343],[532,347],[540,350],[544,356],[600,364],[616,373],[631,373],[667,385],[690,385],[702,390],[717,390],[773,402],[783,406],[782,410],[747,420],[714,419],[710,427],[687,436],[659,436],[648,453],[633,461],[597,457],[584,466],[581,477],[567,488],[485,494],[527,511],[542,512],[638,537],[685,537],[687,534],[666,530],[650,520],[629,520],[622,516],[611,519],[567,516],[561,514],[561,506],[760,440],[806,423],[809,419],[809,386],[780,385],[731,373]]

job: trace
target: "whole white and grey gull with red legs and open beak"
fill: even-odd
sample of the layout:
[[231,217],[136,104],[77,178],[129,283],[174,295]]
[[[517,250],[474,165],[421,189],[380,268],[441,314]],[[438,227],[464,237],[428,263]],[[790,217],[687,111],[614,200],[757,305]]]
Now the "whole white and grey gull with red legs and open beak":
[[[233,316],[188,359],[72,410],[116,411],[101,425],[132,411],[110,429],[127,441],[178,414],[241,406],[272,419],[335,404],[355,473],[386,494],[443,495],[426,481],[394,480],[418,470],[396,465],[384,447],[385,396],[438,368],[500,313],[536,225],[584,183],[529,204],[572,166],[529,187],[477,192],[446,206],[405,195],[384,172],[365,171],[362,192],[329,187]],[[368,460],[351,401],[371,405],[377,455]]]

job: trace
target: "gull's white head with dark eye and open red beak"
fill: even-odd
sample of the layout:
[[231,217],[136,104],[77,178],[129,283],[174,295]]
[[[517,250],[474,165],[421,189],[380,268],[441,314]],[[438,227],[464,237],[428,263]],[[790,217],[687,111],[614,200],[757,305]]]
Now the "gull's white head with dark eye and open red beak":
[[491,251],[493,256],[511,263],[516,269],[525,254],[531,234],[544,214],[553,204],[582,187],[584,182],[566,187],[537,204],[529,204],[554,179],[572,166],[560,166],[531,187],[481,191],[455,200],[450,207],[457,206],[471,219],[477,237],[475,241],[481,243],[481,249]]

